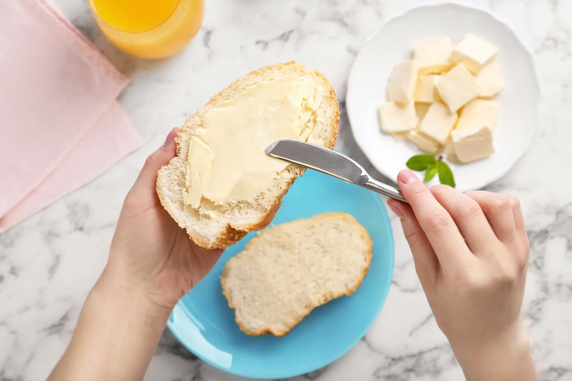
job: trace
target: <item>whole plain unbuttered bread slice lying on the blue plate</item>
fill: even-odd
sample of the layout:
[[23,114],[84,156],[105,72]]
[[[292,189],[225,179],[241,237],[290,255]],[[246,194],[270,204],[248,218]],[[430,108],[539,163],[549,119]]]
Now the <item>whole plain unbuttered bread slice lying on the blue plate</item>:
[[353,216],[325,213],[260,232],[224,267],[221,284],[248,335],[284,336],[314,307],[358,289],[372,242]]

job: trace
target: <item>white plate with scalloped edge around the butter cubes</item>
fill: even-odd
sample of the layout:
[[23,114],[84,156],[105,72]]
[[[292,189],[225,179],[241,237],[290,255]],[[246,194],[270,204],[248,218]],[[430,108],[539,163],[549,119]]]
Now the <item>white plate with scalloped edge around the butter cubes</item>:
[[[392,18],[366,40],[349,72],[346,105],[353,136],[371,163],[395,180],[412,155],[420,150],[410,142],[396,142],[379,128],[378,109],[387,101],[386,85],[392,67],[410,57],[416,41],[451,37],[459,41],[474,33],[499,48],[495,60],[505,78],[499,118],[493,133],[496,153],[465,164],[451,164],[457,189],[480,189],[501,178],[525,153],[538,122],[540,89],[533,55],[506,23],[486,10],[445,3],[416,7]],[[436,178],[431,183],[438,183]]]

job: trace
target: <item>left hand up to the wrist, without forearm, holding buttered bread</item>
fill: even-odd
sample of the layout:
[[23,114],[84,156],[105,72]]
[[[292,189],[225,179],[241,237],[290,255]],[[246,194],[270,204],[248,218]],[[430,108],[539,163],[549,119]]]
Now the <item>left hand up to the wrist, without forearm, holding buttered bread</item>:
[[195,244],[157,196],[157,171],[176,156],[176,135],[173,129],[165,145],[147,158],[125,197],[102,275],[169,311],[208,274],[223,252]]

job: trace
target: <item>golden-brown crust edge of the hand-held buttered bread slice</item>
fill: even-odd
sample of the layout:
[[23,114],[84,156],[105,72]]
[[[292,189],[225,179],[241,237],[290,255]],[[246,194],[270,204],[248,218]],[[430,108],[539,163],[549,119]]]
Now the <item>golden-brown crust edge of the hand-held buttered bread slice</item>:
[[[210,101],[206,103],[200,110],[193,115],[190,115],[186,119],[184,125],[181,126],[175,138],[177,145],[177,157],[172,159],[168,165],[162,167],[157,174],[157,195],[161,201],[162,206],[166,211],[172,216],[172,218],[178,223],[179,226],[185,228],[188,232],[190,238],[199,246],[206,248],[226,248],[231,246],[231,244],[238,242],[242,239],[249,231],[261,230],[268,226],[272,221],[278,208],[280,207],[281,200],[283,196],[288,192],[289,188],[292,186],[296,178],[300,177],[305,168],[298,165],[288,165],[285,170],[291,174],[291,178],[285,182],[285,186],[275,195],[271,206],[263,215],[260,216],[258,220],[251,221],[249,224],[233,224],[227,223],[224,228],[219,230],[216,234],[210,238],[210,240],[204,239],[201,236],[194,234],[193,230],[189,228],[189,224],[185,222],[184,219],[180,218],[179,214],[173,210],[172,206],[166,199],[165,189],[168,187],[168,182],[170,181],[168,172],[178,170],[174,161],[186,162],[186,154],[188,153],[188,142],[194,130],[196,130],[202,123],[204,115],[213,107],[219,105],[219,103],[228,101],[235,97],[235,95],[241,93],[244,89],[249,86],[254,85],[258,82],[268,81],[269,79],[277,78],[281,75],[298,73],[300,75],[311,75],[315,81],[319,82],[319,85],[324,89],[323,102],[324,107],[328,110],[331,115],[326,119],[329,135],[324,140],[324,145],[328,149],[333,149],[333,146],[337,139],[338,134],[338,123],[340,120],[339,106],[336,100],[336,93],[332,89],[324,75],[315,70],[308,70],[303,65],[296,62],[286,62],[278,63],[276,65],[265,66],[252,73],[247,74],[245,77],[237,79],[231,85],[226,87],[220,93],[216,94],[214,97],[210,98]],[[173,163],[173,164],[172,164]]]

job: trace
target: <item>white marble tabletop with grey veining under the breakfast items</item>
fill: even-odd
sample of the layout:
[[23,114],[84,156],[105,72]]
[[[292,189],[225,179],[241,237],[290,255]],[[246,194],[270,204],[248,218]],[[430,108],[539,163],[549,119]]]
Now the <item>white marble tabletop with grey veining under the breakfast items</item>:
[[[63,13],[131,79],[120,98],[144,146],[82,189],[0,235],[0,379],[41,380],[65,349],[102,270],[122,199],[146,155],[236,77],[296,60],[332,82],[341,106],[336,147],[368,166],[345,115],[345,79],[362,41],[412,0],[207,0],[192,44],[171,59],[121,53],[86,2]],[[523,316],[541,380],[572,380],[572,0],[475,1],[513,24],[533,47],[542,115],[529,153],[488,190],[522,200],[531,252]],[[372,173],[376,174],[372,170]],[[374,326],[340,360],[296,378],[459,380],[394,217],[396,267]],[[237,380],[201,363],[165,332],[145,380]]]

